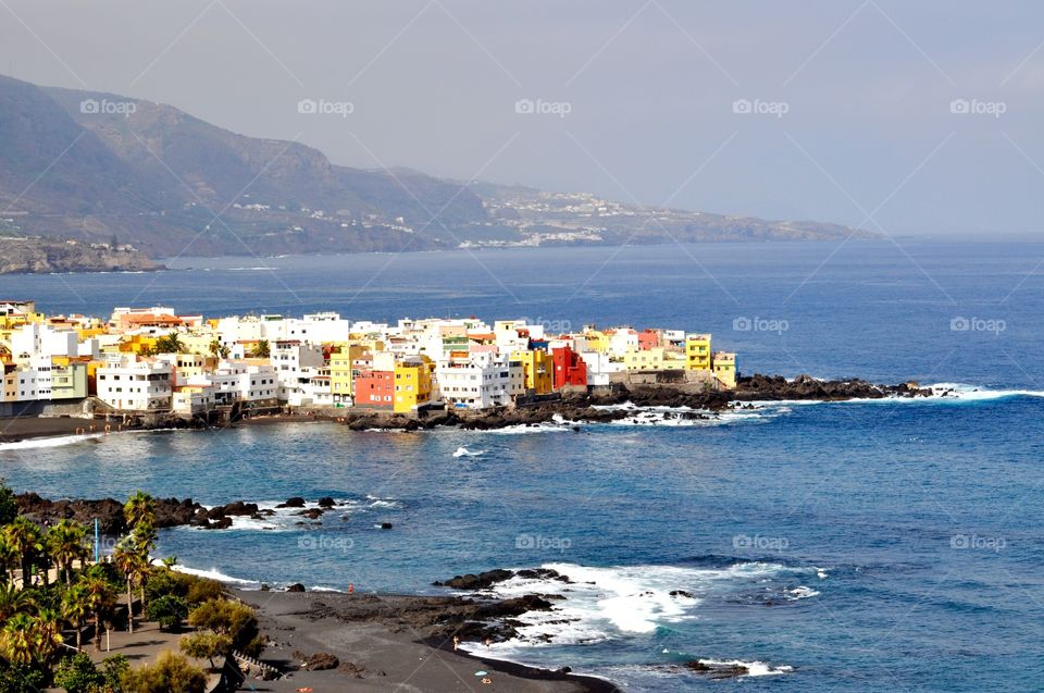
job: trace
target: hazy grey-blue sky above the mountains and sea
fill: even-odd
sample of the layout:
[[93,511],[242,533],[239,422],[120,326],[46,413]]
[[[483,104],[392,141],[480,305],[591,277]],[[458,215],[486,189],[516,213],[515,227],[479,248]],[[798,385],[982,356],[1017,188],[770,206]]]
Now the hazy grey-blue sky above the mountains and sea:
[[1042,230],[1042,42],[1029,1],[0,0],[2,72],[335,163],[892,234]]

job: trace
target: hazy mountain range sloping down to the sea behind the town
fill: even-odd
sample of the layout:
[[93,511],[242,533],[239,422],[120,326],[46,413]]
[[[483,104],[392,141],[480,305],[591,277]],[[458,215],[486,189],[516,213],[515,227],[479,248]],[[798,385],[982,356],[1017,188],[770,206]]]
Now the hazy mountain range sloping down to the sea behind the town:
[[170,106],[3,76],[0,210],[3,236],[129,246],[151,257],[853,233],[339,166],[299,143],[237,135]]

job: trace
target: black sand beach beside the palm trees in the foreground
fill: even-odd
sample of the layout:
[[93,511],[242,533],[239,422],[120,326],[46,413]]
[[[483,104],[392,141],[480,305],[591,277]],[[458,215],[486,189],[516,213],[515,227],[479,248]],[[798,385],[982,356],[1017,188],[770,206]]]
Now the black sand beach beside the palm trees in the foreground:
[[[458,603],[455,597],[233,593],[257,608],[262,632],[272,641],[261,657],[264,663],[288,671],[300,664],[300,655],[319,653],[334,655],[339,663],[328,670],[293,671],[275,681],[251,680],[258,691],[618,691],[602,679],[453,652],[450,639],[433,635],[437,629],[432,621],[453,608]],[[478,671],[486,673],[476,676]]]

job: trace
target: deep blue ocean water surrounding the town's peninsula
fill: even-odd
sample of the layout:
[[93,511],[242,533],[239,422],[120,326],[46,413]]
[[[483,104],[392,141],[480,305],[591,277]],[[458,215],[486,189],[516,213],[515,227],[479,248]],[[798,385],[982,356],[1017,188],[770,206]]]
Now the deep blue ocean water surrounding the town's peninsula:
[[[535,617],[525,632],[551,643],[494,652],[630,690],[1039,690],[1042,260],[1036,244],[743,244],[0,277],[0,294],[51,312],[162,304],[663,325],[712,332],[747,372],[966,384],[956,399],[784,403],[695,426],[124,434],[0,451],[0,473],[50,496],[345,504],[315,527],[282,515],[162,533],[161,553],[250,585],[417,592],[463,571],[555,567],[576,584],[504,592],[562,592],[552,618],[575,620]],[[274,269],[238,269],[256,267]],[[671,669],[693,657],[782,672]]]

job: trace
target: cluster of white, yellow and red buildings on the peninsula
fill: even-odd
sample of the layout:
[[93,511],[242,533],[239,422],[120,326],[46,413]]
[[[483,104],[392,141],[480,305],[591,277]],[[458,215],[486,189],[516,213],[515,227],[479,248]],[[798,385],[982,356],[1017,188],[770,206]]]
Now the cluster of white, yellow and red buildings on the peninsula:
[[520,320],[393,325],[334,312],[204,319],[164,307],[116,308],[102,320],[47,317],[34,301],[0,301],[0,416],[419,413],[518,406],[613,383],[736,383],[734,354],[681,330],[550,334]]

